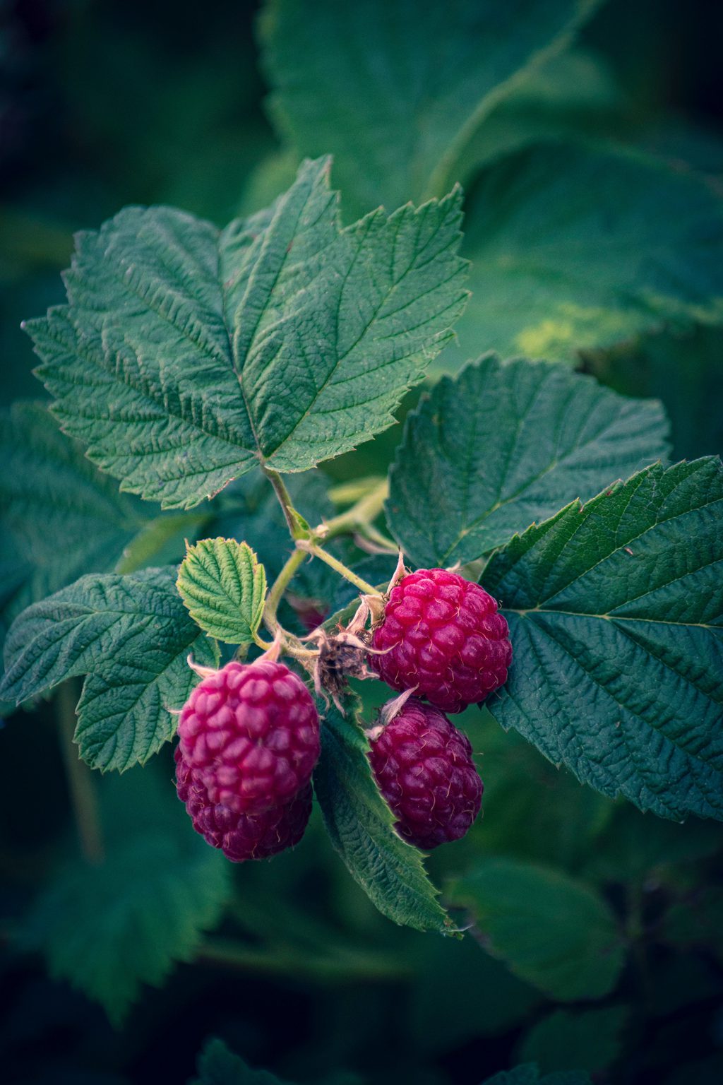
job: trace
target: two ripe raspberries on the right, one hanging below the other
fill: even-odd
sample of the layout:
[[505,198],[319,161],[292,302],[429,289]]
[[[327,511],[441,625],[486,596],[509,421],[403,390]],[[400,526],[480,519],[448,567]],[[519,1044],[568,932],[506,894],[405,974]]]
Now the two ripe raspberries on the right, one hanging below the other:
[[372,648],[379,677],[416,694],[396,714],[387,706],[391,715],[370,732],[372,771],[397,830],[417,847],[457,840],[479,814],[483,786],[469,740],[439,710],[462,712],[506,681],[507,623],[478,584],[421,569],[392,587]]

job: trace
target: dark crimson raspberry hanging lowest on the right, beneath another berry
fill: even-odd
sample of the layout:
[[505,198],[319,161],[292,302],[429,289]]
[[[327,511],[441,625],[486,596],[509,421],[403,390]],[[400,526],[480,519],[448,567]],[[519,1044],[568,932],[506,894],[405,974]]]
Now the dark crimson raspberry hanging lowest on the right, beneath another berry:
[[473,824],[483,786],[469,739],[437,709],[410,698],[371,732],[369,760],[400,837],[417,847],[459,840]]

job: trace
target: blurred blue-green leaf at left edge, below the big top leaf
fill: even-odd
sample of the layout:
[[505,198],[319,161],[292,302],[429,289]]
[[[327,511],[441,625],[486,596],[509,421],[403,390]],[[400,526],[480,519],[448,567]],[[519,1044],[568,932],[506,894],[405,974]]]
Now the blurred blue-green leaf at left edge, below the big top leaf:
[[42,404],[0,412],[0,615],[114,567],[149,512],[63,436]]

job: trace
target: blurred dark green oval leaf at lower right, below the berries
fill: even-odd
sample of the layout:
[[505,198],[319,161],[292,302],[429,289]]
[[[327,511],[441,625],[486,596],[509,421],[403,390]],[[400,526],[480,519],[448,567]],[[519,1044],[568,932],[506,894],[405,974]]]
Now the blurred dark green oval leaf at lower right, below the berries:
[[623,965],[621,935],[602,897],[559,871],[486,858],[447,890],[482,945],[515,975],[560,1001],[602,998]]

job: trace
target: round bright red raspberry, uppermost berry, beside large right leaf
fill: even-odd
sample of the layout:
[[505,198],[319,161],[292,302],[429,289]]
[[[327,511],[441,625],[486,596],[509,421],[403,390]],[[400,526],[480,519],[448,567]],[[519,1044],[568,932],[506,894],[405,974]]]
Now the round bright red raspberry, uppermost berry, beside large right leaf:
[[479,584],[419,569],[395,585],[376,626],[370,665],[392,689],[413,689],[444,712],[483,701],[507,679],[507,623]]

